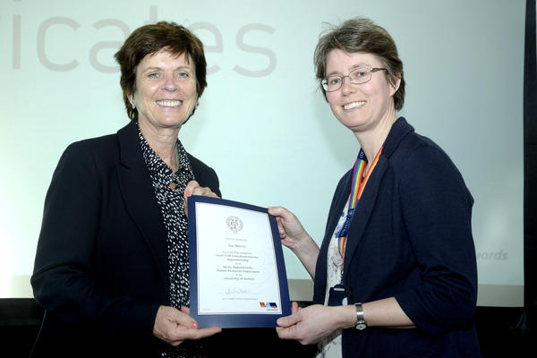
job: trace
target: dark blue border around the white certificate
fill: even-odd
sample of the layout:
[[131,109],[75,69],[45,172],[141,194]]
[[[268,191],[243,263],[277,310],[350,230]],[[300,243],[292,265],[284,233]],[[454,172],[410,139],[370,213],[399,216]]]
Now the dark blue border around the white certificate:
[[[255,313],[237,313],[237,312],[210,312],[200,313],[200,297],[198,282],[198,232],[196,230],[197,203],[208,203],[212,205],[221,205],[237,209],[251,210],[258,213],[266,214],[272,234],[274,247],[274,257],[277,267],[277,285],[279,286],[279,298],[281,307],[277,307],[275,302],[261,302],[258,300],[259,308]],[[234,225],[236,227],[234,227]],[[227,223],[227,226],[234,230],[240,230],[242,223]],[[190,309],[191,316],[198,322],[200,328],[220,327],[220,328],[262,328],[277,327],[276,320],[280,317],[291,314],[291,303],[289,300],[289,288],[287,286],[286,265],[282,244],[277,229],[276,218],[268,214],[268,209],[257,207],[243,202],[210,198],[206,196],[192,195],[188,198],[188,235],[189,235],[189,256],[190,256]],[[268,300],[273,301],[273,300]]]

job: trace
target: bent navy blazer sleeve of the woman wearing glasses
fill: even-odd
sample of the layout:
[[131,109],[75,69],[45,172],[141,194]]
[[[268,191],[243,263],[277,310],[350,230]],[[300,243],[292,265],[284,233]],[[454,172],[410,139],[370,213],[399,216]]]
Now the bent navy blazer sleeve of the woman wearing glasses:
[[456,166],[436,146],[413,150],[402,167],[400,205],[422,285],[396,294],[396,300],[417,327],[439,335],[473,319],[473,198]]

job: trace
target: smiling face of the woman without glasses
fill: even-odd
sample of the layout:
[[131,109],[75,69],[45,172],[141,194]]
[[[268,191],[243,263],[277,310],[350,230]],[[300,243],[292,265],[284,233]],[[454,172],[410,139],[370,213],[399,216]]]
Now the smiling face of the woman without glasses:
[[136,86],[130,96],[141,127],[179,129],[192,114],[198,96],[192,60],[162,49],[145,56],[136,67]]

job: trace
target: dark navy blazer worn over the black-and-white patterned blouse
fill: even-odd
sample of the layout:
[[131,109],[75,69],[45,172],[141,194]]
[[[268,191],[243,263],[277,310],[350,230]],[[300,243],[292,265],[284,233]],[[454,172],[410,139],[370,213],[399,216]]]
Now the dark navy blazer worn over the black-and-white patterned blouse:
[[[188,155],[220,195],[215,171]],[[65,149],[47,192],[31,285],[46,310],[33,356],[150,356],[170,304],[166,228],[134,122]]]

